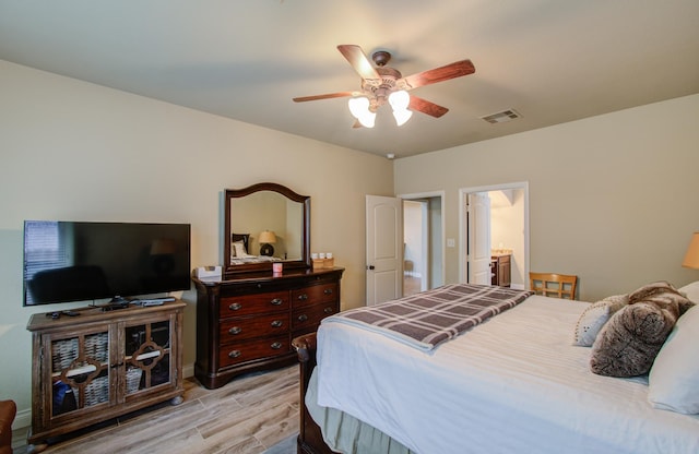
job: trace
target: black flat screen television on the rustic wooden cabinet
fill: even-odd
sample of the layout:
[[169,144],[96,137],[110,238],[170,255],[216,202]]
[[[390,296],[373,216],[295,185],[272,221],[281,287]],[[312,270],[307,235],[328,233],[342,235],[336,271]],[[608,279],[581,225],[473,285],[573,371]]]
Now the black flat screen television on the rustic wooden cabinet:
[[190,225],[24,222],[24,306],[190,288]]

